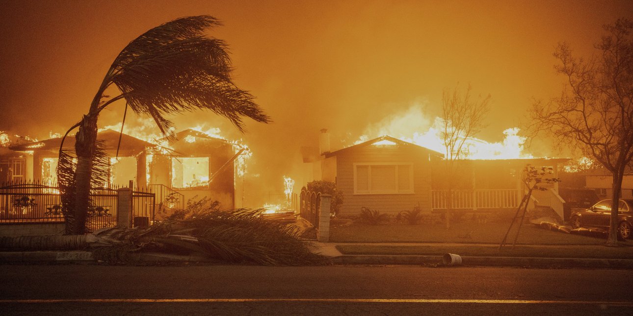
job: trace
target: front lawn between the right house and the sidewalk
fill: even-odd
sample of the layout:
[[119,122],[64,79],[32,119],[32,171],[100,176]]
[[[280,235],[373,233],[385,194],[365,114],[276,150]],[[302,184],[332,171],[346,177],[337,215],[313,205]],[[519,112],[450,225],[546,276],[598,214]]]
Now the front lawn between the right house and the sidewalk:
[[[330,241],[337,243],[484,243],[499,245],[510,222],[477,223],[463,221],[451,224],[391,224],[330,227]],[[511,243],[516,225],[508,236]],[[517,245],[604,245],[606,240],[559,233],[523,224]]]

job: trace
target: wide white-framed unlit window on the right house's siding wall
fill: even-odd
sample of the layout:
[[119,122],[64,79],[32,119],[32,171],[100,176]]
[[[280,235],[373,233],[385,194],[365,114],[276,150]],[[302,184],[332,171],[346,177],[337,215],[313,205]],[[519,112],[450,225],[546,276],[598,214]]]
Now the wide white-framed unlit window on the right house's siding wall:
[[354,194],[413,193],[413,164],[354,164]]

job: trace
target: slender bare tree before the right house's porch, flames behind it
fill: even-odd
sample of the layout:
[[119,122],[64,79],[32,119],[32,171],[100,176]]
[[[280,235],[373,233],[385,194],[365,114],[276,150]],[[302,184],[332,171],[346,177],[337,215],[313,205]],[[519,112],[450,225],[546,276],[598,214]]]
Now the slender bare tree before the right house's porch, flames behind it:
[[465,156],[466,141],[477,135],[484,128],[484,118],[490,111],[491,96],[474,98],[471,86],[465,92],[460,91],[459,85],[453,90],[444,89],[442,93],[442,141],[446,152],[444,166],[446,167],[446,228],[451,227],[451,212],[453,211],[453,188],[456,183],[458,164],[456,161]]

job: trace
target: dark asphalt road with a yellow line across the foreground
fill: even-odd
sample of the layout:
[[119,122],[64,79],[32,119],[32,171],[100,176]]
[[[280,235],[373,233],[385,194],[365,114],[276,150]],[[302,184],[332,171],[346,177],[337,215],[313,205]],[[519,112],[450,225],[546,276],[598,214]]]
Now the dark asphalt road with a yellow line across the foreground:
[[0,315],[633,315],[631,270],[0,265]]

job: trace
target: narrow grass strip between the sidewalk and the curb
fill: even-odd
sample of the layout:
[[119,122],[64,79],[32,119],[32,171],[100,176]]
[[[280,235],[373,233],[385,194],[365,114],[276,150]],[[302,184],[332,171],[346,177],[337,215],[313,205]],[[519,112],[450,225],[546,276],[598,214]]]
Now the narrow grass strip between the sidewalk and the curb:
[[443,255],[456,253],[473,257],[544,257],[544,258],[615,258],[633,259],[633,246],[527,246],[504,247],[498,245],[337,245],[345,255]]

